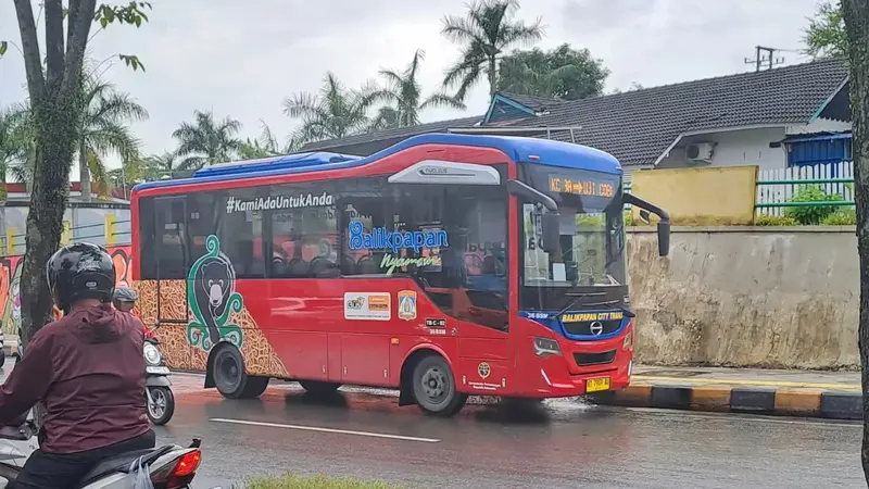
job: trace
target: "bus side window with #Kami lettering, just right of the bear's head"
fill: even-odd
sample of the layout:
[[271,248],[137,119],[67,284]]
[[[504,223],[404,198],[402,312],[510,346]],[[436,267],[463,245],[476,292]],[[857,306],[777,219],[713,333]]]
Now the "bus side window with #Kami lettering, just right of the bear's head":
[[218,201],[216,212],[225,213],[219,223],[221,251],[229,258],[237,278],[265,277],[263,211],[245,205],[257,199],[254,190],[243,189],[230,190]]

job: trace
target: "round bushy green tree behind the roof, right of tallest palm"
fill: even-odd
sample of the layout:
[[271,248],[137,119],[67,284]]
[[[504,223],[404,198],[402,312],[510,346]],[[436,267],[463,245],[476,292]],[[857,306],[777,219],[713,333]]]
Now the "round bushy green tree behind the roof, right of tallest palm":
[[499,64],[498,90],[512,93],[579,100],[603,92],[609,76],[602,60],[588,49],[564,43],[551,51],[513,51]]

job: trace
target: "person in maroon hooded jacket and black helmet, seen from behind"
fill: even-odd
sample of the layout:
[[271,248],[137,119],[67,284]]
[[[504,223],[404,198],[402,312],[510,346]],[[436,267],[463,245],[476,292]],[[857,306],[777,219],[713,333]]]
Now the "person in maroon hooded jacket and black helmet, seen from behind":
[[153,448],[144,412],[142,323],[110,302],[115,269],[105,249],[77,242],[51,256],[48,286],[64,316],[37,331],[0,387],[0,423],[37,402],[46,412],[18,488],[74,488],[106,457]]

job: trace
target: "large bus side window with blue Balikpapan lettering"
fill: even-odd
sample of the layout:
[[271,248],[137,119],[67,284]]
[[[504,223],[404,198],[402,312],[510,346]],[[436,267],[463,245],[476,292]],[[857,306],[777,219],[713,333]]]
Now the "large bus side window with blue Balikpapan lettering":
[[344,275],[411,278],[444,314],[507,330],[503,187],[389,185],[341,209]]

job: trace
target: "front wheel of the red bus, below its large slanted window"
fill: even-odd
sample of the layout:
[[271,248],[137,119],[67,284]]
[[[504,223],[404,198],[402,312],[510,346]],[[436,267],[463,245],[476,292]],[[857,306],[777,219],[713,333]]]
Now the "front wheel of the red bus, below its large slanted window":
[[424,356],[414,367],[413,392],[424,413],[449,417],[467,402],[467,394],[456,392],[450,364],[440,355]]

